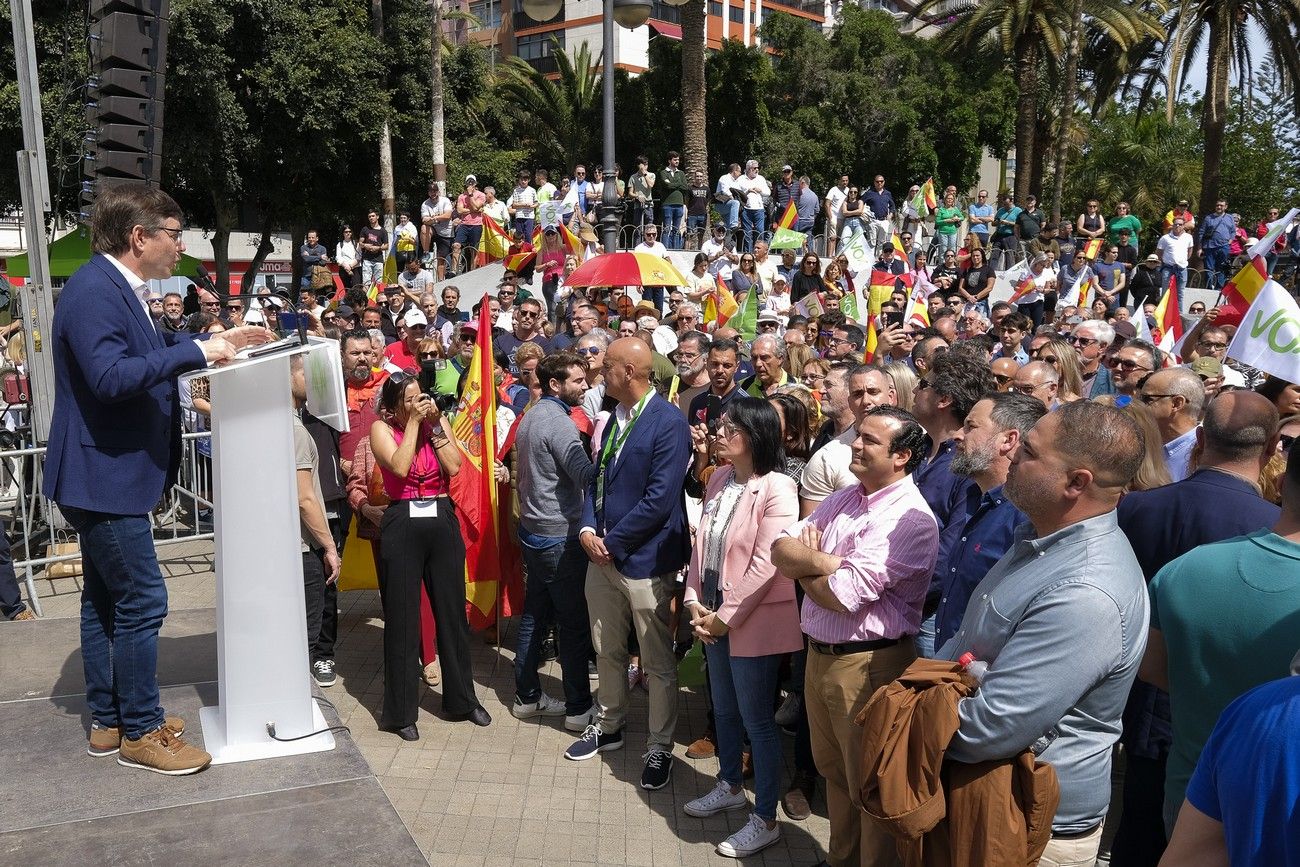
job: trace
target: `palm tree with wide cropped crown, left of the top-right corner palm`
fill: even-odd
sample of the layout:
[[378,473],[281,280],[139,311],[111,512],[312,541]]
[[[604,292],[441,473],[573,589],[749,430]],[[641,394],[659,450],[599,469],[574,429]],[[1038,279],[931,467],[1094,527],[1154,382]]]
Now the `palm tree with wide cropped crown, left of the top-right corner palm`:
[[[1083,0],[1082,4],[1075,0],[922,0],[911,17],[941,23],[944,30],[939,35],[939,47],[942,51],[1001,51],[1014,64],[1019,91],[1015,194],[1022,201],[1030,194],[1035,160],[1043,159],[1037,153],[1035,126],[1039,73],[1044,60],[1070,53],[1067,34],[1072,22],[1082,18],[1087,18],[1096,32],[1122,47],[1135,44],[1154,26],[1148,12],[1127,0]],[[1058,134],[1058,138],[1066,136]]]

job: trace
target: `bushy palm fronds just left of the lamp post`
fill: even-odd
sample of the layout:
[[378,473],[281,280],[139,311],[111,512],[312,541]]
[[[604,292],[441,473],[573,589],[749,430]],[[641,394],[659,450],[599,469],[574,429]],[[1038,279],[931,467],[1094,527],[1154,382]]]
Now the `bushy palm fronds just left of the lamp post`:
[[599,140],[601,65],[581,43],[571,55],[551,42],[559,78],[550,79],[519,57],[498,66],[497,92],[526,121],[520,138],[536,144],[545,164],[571,165],[595,153]]

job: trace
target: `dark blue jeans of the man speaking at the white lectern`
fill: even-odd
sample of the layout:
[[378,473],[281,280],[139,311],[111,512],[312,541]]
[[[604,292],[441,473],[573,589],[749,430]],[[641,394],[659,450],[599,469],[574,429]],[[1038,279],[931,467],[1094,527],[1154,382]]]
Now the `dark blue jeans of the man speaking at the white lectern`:
[[134,740],[162,725],[159,629],[166,585],[144,515],[105,515],[60,507],[81,537],[82,666],[86,705],[100,725]]

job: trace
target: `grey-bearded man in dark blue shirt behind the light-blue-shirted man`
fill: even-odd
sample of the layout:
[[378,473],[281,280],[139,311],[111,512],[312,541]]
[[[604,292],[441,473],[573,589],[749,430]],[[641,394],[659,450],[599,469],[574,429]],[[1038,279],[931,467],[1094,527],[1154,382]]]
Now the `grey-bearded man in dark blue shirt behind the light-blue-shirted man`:
[[1041,400],[1027,394],[991,394],[971,408],[953,434],[957,448],[949,468],[954,476],[970,478],[975,485],[967,489],[962,503],[958,541],[948,562],[939,565],[937,646],[957,632],[975,585],[1011,547],[1015,528],[1026,520],[1024,512],[1002,491],[1002,485],[1011,455],[1046,411]]

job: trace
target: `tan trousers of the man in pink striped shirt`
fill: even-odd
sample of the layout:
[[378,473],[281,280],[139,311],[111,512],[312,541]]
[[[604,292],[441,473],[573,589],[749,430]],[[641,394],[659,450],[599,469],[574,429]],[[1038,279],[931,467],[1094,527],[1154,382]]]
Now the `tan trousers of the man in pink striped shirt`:
[[[832,867],[901,864],[893,837],[858,805],[862,785],[862,729],[853,724],[878,688],[897,680],[916,659],[910,638],[893,647],[831,656],[809,647],[803,701],[812,734],[812,758],[826,777],[831,816]],[[602,681],[603,682],[603,681]]]

